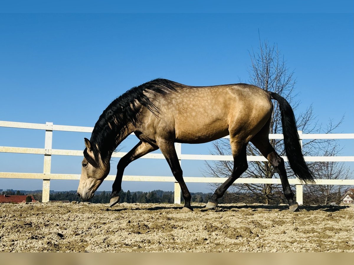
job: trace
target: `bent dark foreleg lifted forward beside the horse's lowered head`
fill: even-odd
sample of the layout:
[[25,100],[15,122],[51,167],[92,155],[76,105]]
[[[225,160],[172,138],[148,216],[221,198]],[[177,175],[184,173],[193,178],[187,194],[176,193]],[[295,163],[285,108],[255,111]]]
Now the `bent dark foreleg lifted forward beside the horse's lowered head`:
[[143,155],[150,153],[159,149],[157,146],[150,145],[140,141],[136,146],[133,147],[124,157],[122,157],[117,165],[117,176],[112,185],[112,194],[109,201],[109,206],[113,206],[119,202],[119,192],[122,189],[122,177],[124,169],[129,165],[133,160],[136,160]]

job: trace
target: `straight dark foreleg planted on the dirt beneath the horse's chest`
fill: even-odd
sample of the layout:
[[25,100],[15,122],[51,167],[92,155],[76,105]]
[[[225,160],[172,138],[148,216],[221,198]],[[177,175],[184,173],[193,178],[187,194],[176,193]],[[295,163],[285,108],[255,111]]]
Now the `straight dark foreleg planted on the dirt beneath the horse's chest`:
[[189,193],[187,185],[183,180],[183,171],[181,165],[179,164],[177,153],[173,142],[162,141],[158,143],[162,154],[165,156],[167,163],[171,168],[172,174],[179,183],[179,186],[182,190],[182,196],[184,199],[184,207],[182,208],[183,212],[191,212],[193,211],[192,206],[190,206],[190,200],[192,196]]

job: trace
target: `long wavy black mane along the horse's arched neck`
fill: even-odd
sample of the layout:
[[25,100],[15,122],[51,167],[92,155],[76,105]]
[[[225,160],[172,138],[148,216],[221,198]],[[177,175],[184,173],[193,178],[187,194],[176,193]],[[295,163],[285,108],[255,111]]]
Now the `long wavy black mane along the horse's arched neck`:
[[90,142],[95,161],[87,154],[87,149],[84,150],[84,157],[94,167],[98,167],[98,159],[101,155],[102,162],[107,165],[109,155],[116,148],[116,140],[125,132],[127,125],[132,123],[138,127],[141,123],[138,115],[140,106],[146,107],[155,115],[159,114],[159,108],[150,101],[147,94],[165,95],[177,91],[180,86],[176,82],[158,78],[133,87],[113,100],[99,116],[92,131]]

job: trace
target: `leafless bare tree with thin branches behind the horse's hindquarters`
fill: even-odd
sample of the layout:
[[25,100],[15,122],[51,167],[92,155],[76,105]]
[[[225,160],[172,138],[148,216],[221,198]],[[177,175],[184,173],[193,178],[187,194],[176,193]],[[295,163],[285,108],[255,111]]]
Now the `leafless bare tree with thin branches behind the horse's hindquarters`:
[[[293,71],[290,71],[286,67],[286,61],[284,60],[284,57],[281,56],[276,45],[269,46],[267,41],[264,41],[263,43],[260,41],[259,51],[254,52],[252,50],[252,52],[250,52],[250,58],[251,67],[248,71],[250,75],[248,83],[281,95],[295,110],[298,107],[299,102],[295,101],[297,94],[294,91],[296,82],[293,78]],[[322,126],[316,122],[312,106],[308,107],[305,112],[300,113],[297,117],[298,130],[302,130],[303,133],[331,133],[338,128],[341,122],[342,120],[337,124],[330,122],[329,126],[326,126],[326,128],[323,129]],[[270,133],[282,133],[281,115],[277,101],[274,101]],[[285,155],[283,140],[270,139],[270,144],[278,154]],[[303,143],[303,152],[304,155],[336,155],[339,152],[339,145],[336,140],[312,140]],[[229,141],[227,139],[220,139],[213,142],[213,151],[211,153],[230,155]],[[261,153],[250,143],[247,146],[247,155],[261,155]],[[229,177],[233,170],[233,161],[216,161],[215,163],[206,162],[206,166],[206,176]],[[329,169],[330,167],[332,170]],[[339,165],[338,163],[329,164],[326,162],[315,162],[309,164],[309,168],[315,172],[315,178],[343,178],[348,177],[349,174],[348,168],[344,164]],[[327,171],[325,170],[326,168],[328,168]],[[295,177],[287,164],[286,171],[288,177]],[[323,172],[325,171],[333,173],[324,175]],[[344,172],[347,173],[344,174]],[[278,177],[278,173],[276,173],[275,169],[268,161],[255,161],[249,162],[249,168],[242,174],[242,177],[273,178]],[[213,187],[217,186],[217,184],[211,185]],[[319,185],[306,185],[306,191],[312,193],[316,190],[318,196],[320,196],[320,194],[332,194],[332,190],[336,189],[338,193],[338,187],[330,187],[326,190],[324,187],[318,187]],[[330,189],[330,191],[328,189]],[[287,203],[281,185],[233,184],[230,187],[230,190],[232,191],[230,194],[233,194],[235,201],[240,201],[240,199],[242,199],[244,202],[260,202],[265,204],[275,204],[280,202]],[[228,194],[228,198],[230,198],[230,194]]]

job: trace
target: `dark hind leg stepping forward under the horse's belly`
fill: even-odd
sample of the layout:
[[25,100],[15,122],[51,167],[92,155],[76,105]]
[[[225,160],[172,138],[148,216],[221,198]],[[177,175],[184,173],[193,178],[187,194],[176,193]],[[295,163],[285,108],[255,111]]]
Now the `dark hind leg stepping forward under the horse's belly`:
[[234,183],[234,181],[238,179],[241,174],[245,172],[248,168],[246,155],[247,144],[242,146],[239,143],[235,142],[233,137],[230,137],[230,144],[234,157],[234,168],[232,174],[223,184],[220,185],[219,188],[215,190],[215,193],[211,196],[208,203],[206,204],[207,209],[216,207],[218,205],[218,199],[224,195],[224,193],[231,186],[231,184]]

